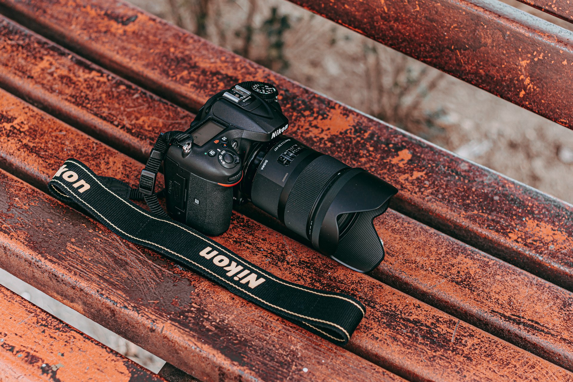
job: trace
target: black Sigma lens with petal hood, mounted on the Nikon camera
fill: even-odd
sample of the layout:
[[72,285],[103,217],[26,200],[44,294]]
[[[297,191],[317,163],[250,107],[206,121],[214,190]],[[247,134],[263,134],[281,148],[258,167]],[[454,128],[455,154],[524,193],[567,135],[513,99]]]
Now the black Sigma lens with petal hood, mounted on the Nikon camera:
[[352,269],[384,258],[372,220],[398,190],[291,137],[259,145],[246,161],[242,191],[253,204]]

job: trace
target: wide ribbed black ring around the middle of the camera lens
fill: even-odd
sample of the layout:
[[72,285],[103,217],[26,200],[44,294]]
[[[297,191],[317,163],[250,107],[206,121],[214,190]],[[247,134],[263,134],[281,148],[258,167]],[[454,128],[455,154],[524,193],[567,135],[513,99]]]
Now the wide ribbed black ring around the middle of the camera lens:
[[336,172],[347,168],[346,164],[329,155],[321,155],[308,164],[300,173],[286,199],[284,223],[302,237],[307,237],[308,216],[316,199],[328,180]]

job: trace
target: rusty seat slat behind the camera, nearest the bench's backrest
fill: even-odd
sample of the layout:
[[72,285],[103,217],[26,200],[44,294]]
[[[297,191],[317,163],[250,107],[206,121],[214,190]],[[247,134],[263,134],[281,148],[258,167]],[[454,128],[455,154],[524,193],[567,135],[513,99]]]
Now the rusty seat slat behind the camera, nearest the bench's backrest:
[[[292,126],[287,133],[395,184],[395,209],[573,290],[570,204],[319,96],[126,3],[0,3],[27,25],[190,108],[238,81],[275,82],[284,90],[281,102]],[[544,60],[530,61],[536,68]],[[566,82],[568,76],[553,78]]]

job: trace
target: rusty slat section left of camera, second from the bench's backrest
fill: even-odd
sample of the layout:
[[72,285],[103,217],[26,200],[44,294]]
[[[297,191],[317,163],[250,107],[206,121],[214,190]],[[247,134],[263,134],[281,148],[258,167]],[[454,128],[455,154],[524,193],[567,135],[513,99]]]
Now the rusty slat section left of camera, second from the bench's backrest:
[[2,16],[0,30],[2,68],[10,72],[0,86],[100,141],[145,160],[156,131],[189,128],[189,112]]

